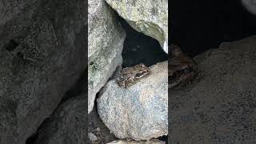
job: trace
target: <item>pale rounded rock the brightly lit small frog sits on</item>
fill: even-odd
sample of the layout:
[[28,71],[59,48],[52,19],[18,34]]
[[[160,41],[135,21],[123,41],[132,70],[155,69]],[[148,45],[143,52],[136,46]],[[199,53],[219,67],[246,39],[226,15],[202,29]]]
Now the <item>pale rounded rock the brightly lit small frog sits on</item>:
[[117,138],[149,140],[167,135],[167,65],[150,66],[150,76],[128,89],[111,80],[101,90],[98,114]]

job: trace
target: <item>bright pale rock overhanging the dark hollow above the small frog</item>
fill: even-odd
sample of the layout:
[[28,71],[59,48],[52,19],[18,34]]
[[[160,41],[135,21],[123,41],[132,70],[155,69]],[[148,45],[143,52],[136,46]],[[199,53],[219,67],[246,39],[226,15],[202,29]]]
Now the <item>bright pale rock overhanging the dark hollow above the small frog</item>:
[[168,1],[167,0],[106,0],[134,28],[158,40],[168,53]]

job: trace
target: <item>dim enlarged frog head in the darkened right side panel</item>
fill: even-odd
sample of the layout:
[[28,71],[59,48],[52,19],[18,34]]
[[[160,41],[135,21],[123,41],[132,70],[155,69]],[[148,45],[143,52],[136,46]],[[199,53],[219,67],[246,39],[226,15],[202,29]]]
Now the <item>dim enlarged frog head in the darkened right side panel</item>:
[[168,57],[168,87],[182,86],[198,74],[198,65],[193,58],[183,53],[182,49],[172,44]]

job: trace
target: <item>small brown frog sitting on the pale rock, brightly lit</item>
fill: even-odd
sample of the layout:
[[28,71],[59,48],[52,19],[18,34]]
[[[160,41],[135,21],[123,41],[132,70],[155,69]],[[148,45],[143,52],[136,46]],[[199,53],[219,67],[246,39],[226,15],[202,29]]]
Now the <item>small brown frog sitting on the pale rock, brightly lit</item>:
[[118,73],[118,78],[116,82],[118,86],[122,88],[128,88],[133,86],[142,78],[146,78],[146,76],[150,75],[150,68],[148,68],[145,64],[140,63],[136,66],[130,66],[122,69]]

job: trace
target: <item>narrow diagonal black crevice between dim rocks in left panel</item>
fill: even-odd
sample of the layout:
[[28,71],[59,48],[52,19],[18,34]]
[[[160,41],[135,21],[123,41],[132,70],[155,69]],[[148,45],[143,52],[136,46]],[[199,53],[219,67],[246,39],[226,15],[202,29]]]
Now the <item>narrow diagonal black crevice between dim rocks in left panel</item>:
[[[66,91],[66,94],[63,96],[61,102],[58,103],[58,106],[53,110],[52,114],[48,118],[46,118],[40,126],[38,126],[38,130],[42,129],[42,126],[50,121],[50,117],[54,114],[54,112],[58,109],[63,102],[66,102],[70,98],[74,98],[86,92],[86,78],[87,78],[88,69],[82,72],[82,76],[78,78],[77,82],[75,82],[74,86],[71,86],[70,90]],[[35,141],[38,139],[38,130],[32,134],[29,138],[26,139],[26,144],[34,144]]]

